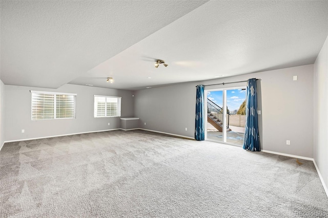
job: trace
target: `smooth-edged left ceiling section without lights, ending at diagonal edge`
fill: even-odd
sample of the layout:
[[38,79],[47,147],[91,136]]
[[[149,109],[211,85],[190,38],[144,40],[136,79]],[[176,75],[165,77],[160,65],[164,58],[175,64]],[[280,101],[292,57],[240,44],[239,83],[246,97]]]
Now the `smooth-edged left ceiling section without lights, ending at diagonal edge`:
[[1,1],[1,79],[58,88],[207,1]]

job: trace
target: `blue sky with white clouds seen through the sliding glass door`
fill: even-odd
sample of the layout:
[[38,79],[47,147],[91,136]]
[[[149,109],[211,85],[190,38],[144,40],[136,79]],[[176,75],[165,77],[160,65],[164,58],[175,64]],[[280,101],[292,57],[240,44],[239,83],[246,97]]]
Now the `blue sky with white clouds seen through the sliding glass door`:
[[[208,92],[207,97],[222,107],[222,93],[223,91]],[[227,90],[227,105],[230,111],[238,110],[240,104],[246,99],[246,90],[236,89]]]

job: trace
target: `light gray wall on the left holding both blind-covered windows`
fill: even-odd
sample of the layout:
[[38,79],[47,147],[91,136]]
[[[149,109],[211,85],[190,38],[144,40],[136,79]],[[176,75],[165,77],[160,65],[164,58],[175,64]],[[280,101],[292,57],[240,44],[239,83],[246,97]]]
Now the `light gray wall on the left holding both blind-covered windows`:
[[[30,90],[76,93],[76,119],[31,120]],[[132,91],[65,84],[59,89],[5,85],[5,141],[120,128],[119,117],[94,118],[93,95],[121,96],[121,117],[134,115]],[[110,126],[108,126],[110,123]],[[25,133],[21,130],[25,129]]]

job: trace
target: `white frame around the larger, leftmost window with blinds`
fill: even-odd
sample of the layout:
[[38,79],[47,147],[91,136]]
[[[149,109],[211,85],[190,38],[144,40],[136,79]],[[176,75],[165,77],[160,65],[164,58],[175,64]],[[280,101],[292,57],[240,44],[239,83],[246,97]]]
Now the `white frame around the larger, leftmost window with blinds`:
[[[54,96],[54,118],[51,119],[34,119],[33,120],[33,97],[31,95],[31,120],[32,121],[39,121],[39,120],[63,120],[63,119],[76,119],[76,96],[75,93],[62,93],[62,92],[44,92],[44,91],[35,91],[30,90],[30,93],[36,93],[36,94],[45,94],[45,95],[53,95]],[[71,95],[74,96],[74,117],[63,117],[63,118],[56,118],[56,95]]]

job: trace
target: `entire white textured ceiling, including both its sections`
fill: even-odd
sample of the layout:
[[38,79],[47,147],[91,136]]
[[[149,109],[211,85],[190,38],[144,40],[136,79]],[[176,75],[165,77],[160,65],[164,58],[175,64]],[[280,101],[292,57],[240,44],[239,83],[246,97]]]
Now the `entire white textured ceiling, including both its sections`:
[[139,90],[311,64],[327,35],[328,1],[1,1],[1,80]]

